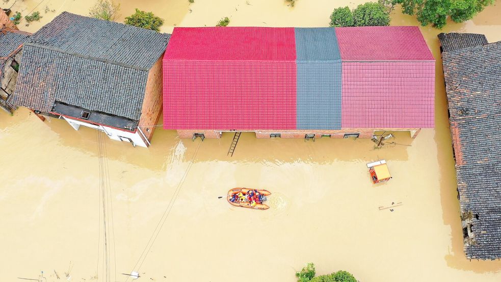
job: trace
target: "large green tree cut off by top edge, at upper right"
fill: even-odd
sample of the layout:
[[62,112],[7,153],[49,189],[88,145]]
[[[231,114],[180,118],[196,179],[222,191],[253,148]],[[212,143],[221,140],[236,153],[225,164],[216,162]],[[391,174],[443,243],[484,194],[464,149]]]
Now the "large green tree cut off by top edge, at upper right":
[[421,25],[433,24],[441,29],[451,17],[455,22],[463,22],[474,17],[494,0],[393,0],[402,5],[402,12],[416,15]]

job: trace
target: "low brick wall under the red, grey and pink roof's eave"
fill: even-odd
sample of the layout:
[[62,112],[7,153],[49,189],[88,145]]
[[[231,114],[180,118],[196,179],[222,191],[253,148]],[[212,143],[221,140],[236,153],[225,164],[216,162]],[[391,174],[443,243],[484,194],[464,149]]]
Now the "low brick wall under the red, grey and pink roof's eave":
[[[304,130],[289,130],[289,131],[273,131],[273,130],[257,130],[256,138],[270,138],[272,133],[280,133],[281,138],[304,138],[306,134],[314,134],[315,138],[320,138],[322,135],[331,135],[331,138],[344,138],[347,133],[359,133],[359,138],[371,138],[376,131],[409,131],[415,132],[412,136],[415,138],[421,129],[342,129],[342,130],[321,130],[321,131],[304,131]],[[194,133],[203,133],[206,138],[221,138],[219,132],[227,132],[229,130],[177,130],[177,135],[180,138],[192,138]],[[237,130],[238,131],[238,130]],[[248,131],[248,130],[247,130]]]

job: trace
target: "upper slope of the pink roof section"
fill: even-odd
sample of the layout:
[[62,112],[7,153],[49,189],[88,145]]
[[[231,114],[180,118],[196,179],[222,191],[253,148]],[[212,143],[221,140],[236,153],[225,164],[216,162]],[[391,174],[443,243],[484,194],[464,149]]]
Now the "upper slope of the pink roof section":
[[418,27],[335,29],[341,60],[435,60]]

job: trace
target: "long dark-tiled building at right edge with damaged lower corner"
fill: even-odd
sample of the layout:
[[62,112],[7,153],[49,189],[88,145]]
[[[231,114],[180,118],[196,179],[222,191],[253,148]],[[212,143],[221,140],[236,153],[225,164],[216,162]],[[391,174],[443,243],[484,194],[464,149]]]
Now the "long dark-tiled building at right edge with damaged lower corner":
[[439,34],[467,258],[501,258],[501,41]]

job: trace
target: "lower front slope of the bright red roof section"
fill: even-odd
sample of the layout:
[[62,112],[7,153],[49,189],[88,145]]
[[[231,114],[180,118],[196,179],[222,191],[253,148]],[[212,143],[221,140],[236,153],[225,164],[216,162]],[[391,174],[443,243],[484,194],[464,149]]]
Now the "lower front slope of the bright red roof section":
[[164,129],[296,128],[296,63],[164,60]]

